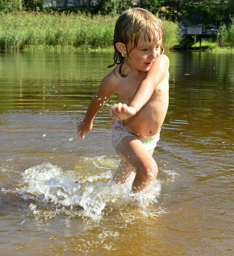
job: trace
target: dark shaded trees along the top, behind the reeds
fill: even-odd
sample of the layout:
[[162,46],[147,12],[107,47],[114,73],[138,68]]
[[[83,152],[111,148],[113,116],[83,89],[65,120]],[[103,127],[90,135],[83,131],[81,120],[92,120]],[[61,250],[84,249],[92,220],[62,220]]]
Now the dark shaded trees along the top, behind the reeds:
[[203,25],[228,24],[231,22],[229,17],[234,15],[234,0],[0,0],[0,12],[53,10],[114,16],[133,6],[145,8],[172,21],[186,17],[193,23]]

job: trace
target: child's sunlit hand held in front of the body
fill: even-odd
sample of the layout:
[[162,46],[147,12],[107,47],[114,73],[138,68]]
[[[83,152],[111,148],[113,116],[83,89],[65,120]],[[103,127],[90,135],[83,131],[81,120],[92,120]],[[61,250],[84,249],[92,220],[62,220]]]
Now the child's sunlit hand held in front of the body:
[[109,116],[113,117],[115,115],[114,119],[112,120],[112,123],[115,124],[116,122],[119,122],[120,120],[126,120],[136,114],[136,110],[133,107],[128,107],[125,103],[115,103],[112,108],[109,111]]

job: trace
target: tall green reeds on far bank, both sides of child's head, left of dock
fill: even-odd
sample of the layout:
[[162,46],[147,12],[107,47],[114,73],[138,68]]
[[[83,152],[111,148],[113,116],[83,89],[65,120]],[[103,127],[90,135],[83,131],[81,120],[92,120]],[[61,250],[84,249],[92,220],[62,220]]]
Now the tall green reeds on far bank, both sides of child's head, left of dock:
[[[0,49],[111,49],[112,16],[15,12],[0,15]],[[164,47],[178,44],[176,23],[164,21]]]

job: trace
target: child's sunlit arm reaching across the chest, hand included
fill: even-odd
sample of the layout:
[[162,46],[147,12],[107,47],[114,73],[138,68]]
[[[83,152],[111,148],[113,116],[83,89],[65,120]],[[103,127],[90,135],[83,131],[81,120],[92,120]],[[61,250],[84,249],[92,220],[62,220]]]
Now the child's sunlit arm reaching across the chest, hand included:
[[146,73],[144,80],[139,84],[134,96],[128,105],[117,103],[110,110],[110,116],[116,115],[113,123],[126,120],[134,116],[151,98],[155,87],[165,78],[169,69],[169,59],[162,54],[156,58],[151,68]]

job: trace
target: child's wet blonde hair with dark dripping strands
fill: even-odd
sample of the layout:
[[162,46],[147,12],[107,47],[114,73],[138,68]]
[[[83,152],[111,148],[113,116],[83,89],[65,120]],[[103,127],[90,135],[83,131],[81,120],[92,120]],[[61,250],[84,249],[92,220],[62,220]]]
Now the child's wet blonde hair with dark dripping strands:
[[[159,38],[155,38],[155,31],[158,33]],[[146,32],[146,33],[144,33]],[[144,37],[145,41],[151,41],[152,35],[154,40],[162,40],[164,38],[165,28],[162,20],[142,8],[132,8],[123,12],[117,19],[114,28],[114,63],[108,67],[120,64],[120,76],[124,75],[122,66],[125,57],[119,52],[115,46],[116,43],[123,43],[126,46],[127,58],[128,54],[137,47],[137,42],[140,37]],[[128,49],[128,43],[131,42],[131,47]],[[162,47],[162,46],[161,46]],[[163,54],[164,49],[162,47]]]

